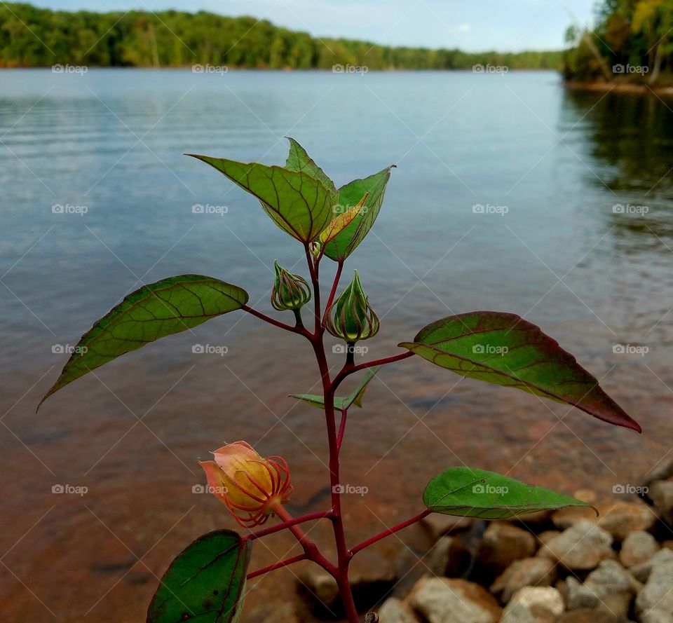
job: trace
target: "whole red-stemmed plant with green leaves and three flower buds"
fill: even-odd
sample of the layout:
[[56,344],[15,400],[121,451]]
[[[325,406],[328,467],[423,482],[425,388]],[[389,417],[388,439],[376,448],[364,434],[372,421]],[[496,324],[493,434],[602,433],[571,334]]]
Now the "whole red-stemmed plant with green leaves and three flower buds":
[[[237,285],[203,275],[166,278],[132,292],[95,322],[46,397],[88,371],[158,338],[192,329],[235,310],[252,314],[262,322],[297,334],[315,354],[322,392],[294,397],[324,411],[329,448],[326,477],[332,493],[329,508],[292,517],[283,506],[292,493],[290,468],[283,458],[263,458],[245,441],[216,450],[215,460],[200,465],[209,490],[224,502],[243,530],[215,530],[186,547],[163,575],[149,605],[148,622],[235,622],[243,607],[246,578],[308,560],[334,577],[348,622],[356,623],[358,611],[348,582],[351,560],[365,547],[424,516],[434,512],[505,519],[545,509],[587,506],[580,500],[494,472],[449,467],[429,481],[419,500],[419,514],[358,545],[349,545],[341,512],[344,487],[339,480],[339,451],[348,411],[353,405],[362,406],[367,383],[381,367],[416,355],[415,359],[428,360],[461,376],[570,404],[595,418],[638,432],[640,427],[606,395],[575,357],[539,327],[511,313],[476,311],[449,316],[428,324],[412,340],[398,344],[402,350],[397,354],[355,363],[354,354],[359,348],[356,343],[376,335],[379,318],[357,271],[337,296],[339,281],[346,259],[379,215],[392,166],[337,189],[294,139],[290,139],[290,154],[283,167],[194,157],[256,197],[273,222],[304,247],[308,279],[277,262],[274,266],[271,306],[285,315],[290,311],[290,322],[248,306],[247,292]],[[322,305],[320,268],[325,259],[334,262],[336,270],[327,301]],[[308,311],[303,315],[305,307]],[[325,332],[344,342],[343,366],[334,376],[327,364]],[[341,383],[351,375],[360,376],[359,385],[348,396],[337,395]],[[269,517],[275,517],[277,523],[257,528]],[[302,524],[313,521],[332,524],[336,559],[327,559],[302,530]],[[266,568],[249,570],[254,541],[280,530],[290,530],[303,553]]]

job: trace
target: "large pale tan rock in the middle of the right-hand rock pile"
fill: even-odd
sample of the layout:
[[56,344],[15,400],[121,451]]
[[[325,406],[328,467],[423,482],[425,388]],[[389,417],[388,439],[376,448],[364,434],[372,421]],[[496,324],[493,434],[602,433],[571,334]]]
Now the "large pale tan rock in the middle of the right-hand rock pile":
[[590,570],[615,557],[612,537],[592,521],[578,521],[545,545],[544,555],[570,570]]

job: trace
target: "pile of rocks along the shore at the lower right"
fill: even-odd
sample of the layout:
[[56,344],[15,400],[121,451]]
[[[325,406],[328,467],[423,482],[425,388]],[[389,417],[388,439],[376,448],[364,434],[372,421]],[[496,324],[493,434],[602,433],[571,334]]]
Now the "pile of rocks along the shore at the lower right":
[[[416,573],[368,569],[354,583],[358,605],[381,623],[673,623],[673,463],[611,499],[576,497],[598,516],[577,507],[507,521],[430,515],[420,528],[433,545]],[[339,611],[328,575],[312,566],[299,577],[311,620]],[[288,604],[273,621],[304,622],[300,610]]]

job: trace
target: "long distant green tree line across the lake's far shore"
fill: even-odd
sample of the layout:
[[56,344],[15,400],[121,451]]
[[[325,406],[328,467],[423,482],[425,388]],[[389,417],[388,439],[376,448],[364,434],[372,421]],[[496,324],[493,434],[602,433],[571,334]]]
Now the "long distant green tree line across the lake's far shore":
[[321,39],[251,17],[205,11],[51,11],[0,4],[0,67],[189,67],[259,69],[559,69],[562,53],[465,53]]

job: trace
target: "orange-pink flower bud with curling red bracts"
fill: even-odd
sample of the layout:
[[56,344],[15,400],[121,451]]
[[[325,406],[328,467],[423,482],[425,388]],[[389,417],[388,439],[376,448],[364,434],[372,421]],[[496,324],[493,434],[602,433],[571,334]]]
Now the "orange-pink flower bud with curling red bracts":
[[215,497],[224,502],[240,526],[259,526],[292,493],[290,470],[280,456],[261,458],[245,441],[227,444],[199,461]]

